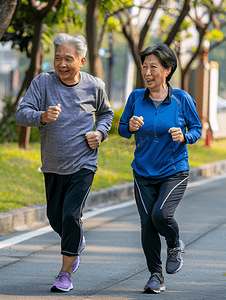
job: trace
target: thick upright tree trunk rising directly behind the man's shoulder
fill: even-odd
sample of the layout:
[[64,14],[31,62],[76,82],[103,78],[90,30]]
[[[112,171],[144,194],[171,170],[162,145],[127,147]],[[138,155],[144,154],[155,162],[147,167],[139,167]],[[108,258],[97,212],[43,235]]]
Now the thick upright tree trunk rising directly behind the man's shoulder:
[[103,66],[97,46],[97,18],[99,0],[90,0],[87,4],[86,38],[89,52],[89,72],[103,80]]

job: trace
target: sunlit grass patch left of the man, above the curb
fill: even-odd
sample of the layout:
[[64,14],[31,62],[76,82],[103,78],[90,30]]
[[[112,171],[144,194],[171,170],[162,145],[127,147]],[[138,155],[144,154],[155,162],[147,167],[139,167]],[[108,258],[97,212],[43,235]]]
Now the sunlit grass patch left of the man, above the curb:
[[0,145],[0,211],[19,209],[45,202],[43,174],[39,145],[29,151],[19,149],[18,144]]

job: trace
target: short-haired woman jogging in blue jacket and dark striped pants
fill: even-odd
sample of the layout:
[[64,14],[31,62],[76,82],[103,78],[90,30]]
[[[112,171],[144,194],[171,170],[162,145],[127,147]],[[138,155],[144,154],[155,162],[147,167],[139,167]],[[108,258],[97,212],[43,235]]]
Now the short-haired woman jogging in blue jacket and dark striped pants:
[[169,81],[177,68],[174,52],[165,44],[148,47],[141,53],[146,89],[134,90],[119,123],[119,134],[135,135],[132,162],[134,189],[141,220],[142,247],[151,276],[146,293],[165,290],[161,241],[167,244],[166,272],[174,274],[183,266],[184,244],[179,239],[175,210],[189,178],[186,144],[201,136],[195,101]]

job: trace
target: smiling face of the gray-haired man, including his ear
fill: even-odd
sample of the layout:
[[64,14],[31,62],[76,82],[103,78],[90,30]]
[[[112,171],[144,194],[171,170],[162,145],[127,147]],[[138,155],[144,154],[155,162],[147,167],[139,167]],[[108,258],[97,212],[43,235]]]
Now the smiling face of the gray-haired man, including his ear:
[[70,45],[57,46],[54,56],[54,68],[60,80],[73,85],[80,80],[79,70],[86,62],[86,58],[80,59],[76,48]]

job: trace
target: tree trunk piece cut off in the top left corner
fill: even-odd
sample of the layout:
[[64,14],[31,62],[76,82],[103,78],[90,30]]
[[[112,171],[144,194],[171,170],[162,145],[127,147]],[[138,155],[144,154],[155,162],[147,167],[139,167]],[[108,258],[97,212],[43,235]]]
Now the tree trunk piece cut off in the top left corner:
[[0,0],[0,40],[11,22],[16,6],[16,0]]

